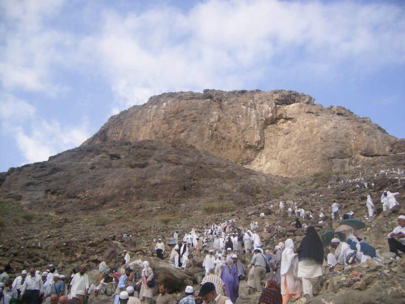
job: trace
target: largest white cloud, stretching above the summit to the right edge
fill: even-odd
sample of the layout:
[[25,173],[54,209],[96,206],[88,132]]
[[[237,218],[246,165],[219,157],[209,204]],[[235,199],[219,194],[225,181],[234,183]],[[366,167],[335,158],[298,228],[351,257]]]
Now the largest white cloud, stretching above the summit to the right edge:
[[216,0],[187,14],[105,10],[80,53],[111,83],[115,113],[152,93],[241,89],[275,73],[325,78],[347,62],[358,71],[404,64],[402,14],[389,4]]

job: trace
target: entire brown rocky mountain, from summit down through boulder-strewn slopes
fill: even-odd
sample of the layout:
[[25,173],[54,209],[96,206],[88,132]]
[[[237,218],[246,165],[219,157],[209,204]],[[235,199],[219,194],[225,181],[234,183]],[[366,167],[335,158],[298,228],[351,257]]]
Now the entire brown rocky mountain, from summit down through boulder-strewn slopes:
[[[315,296],[297,304],[403,303],[405,258],[388,252],[386,236],[405,214],[404,151],[405,140],[369,119],[293,91],[154,96],[112,117],[80,147],[0,173],[0,267],[10,263],[13,277],[31,265],[39,270],[53,263],[69,277],[71,268],[86,265],[96,283],[99,262],[122,270],[127,249],[131,263],[149,260],[178,299],[185,285],[199,286],[205,271],[203,258],[192,255],[186,271],[168,267],[174,231],[183,236],[212,222],[233,219],[249,227],[257,221],[263,248],[288,238],[298,246],[305,231],[291,226],[287,208],[298,203],[313,211],[314,218],[302,222],[321,235],[338,225],[328,211],[337,200],[341,215],[353,211],[366,221],[366,229],[355,233],[384,262],[333,272],[326,265]],[[366,181],[374,186],[364,187]],[[384,189],[398,192],[400,205],[382,213]],[[367,217],[368,195],[373,218]],[[153,257],[156,238],[168,246],[163,261]],[[251,254],[239,253],[239,259],[247,265]],[[114,290],[109,285],[110,294]],[[259,296],[249,294],[243,281],[239,295],[236,304],[257,303]]]

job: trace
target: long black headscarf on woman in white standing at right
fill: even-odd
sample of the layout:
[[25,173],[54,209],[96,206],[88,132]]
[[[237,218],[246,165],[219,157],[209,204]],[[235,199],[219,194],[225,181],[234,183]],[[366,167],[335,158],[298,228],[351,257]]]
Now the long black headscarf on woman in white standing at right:
[[312,259],[318,264],[323,263],[323,244],[314,226],[307,228],[307,234],[297,249],[298,260]]

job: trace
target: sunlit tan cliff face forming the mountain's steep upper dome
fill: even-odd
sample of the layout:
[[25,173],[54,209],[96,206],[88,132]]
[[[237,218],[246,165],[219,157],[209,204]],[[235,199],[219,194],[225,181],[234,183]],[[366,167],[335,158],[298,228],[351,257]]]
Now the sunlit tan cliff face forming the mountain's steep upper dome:
[[153,96],[109,119],[83,145],[116,140],[182,140],[253,170],[300,176],[345,170],[398,153],[397,138],[351,111],[274,90]]

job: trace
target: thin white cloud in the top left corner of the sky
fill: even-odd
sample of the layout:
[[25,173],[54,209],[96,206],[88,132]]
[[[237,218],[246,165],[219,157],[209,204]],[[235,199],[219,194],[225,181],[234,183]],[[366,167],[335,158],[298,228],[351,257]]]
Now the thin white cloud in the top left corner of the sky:
[[[41,91],[55,95],[61,86],[53,81],[55,64],[64,63],[69,35],[47,27],[62,1],[3,1],[0,39],[0,83],[6,89]],[[62,86],[63,89],[63,86]]]

